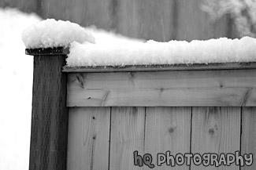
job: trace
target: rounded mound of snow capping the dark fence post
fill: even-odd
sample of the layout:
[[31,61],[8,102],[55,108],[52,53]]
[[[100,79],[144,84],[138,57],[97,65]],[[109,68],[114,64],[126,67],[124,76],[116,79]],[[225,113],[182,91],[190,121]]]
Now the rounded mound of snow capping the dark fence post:
[[95,42],[95,38],[78,24],[69,21],[47,19],[22,34],[27,49],[68,46],[71,42]]

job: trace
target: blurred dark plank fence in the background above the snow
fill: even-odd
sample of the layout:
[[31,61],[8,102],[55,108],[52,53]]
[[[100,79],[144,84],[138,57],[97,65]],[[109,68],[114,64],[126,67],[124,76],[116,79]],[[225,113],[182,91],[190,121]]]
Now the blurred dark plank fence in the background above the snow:
[[169,40],[232,38],[232,20],[211,21],[202,0],[3,0],[39,16],[116,31],[132,38]]

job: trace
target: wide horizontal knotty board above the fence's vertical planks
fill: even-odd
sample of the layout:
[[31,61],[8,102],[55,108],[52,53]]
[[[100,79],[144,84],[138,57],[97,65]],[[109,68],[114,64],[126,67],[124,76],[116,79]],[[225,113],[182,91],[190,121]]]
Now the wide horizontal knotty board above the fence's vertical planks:
[[67,106],[256,106],[256,70],[69,74]]

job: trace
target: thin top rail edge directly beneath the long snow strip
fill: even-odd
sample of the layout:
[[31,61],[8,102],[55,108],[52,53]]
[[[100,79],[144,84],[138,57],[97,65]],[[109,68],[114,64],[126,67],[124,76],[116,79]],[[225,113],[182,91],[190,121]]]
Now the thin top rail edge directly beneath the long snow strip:
[[256,63],[194,63],[176,65],[136,65],[124,67],[98,66],[98,67],[63,67],[68,73],[97,73],[97,72],[139,72],[139,71],[210,71],[210,70],[247,70],[256,69]]

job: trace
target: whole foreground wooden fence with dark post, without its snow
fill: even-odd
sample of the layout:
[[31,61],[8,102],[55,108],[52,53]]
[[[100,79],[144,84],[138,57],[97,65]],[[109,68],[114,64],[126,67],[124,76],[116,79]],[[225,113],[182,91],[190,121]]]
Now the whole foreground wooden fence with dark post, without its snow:
[[[157,166],[157,154],[256,154],[256,63],[69,68],[65,49],[35,56],[30,169],[250,169]],[[67,92],[67,93],[66,93]],[[69,116],[68,116],[69,115]]]

